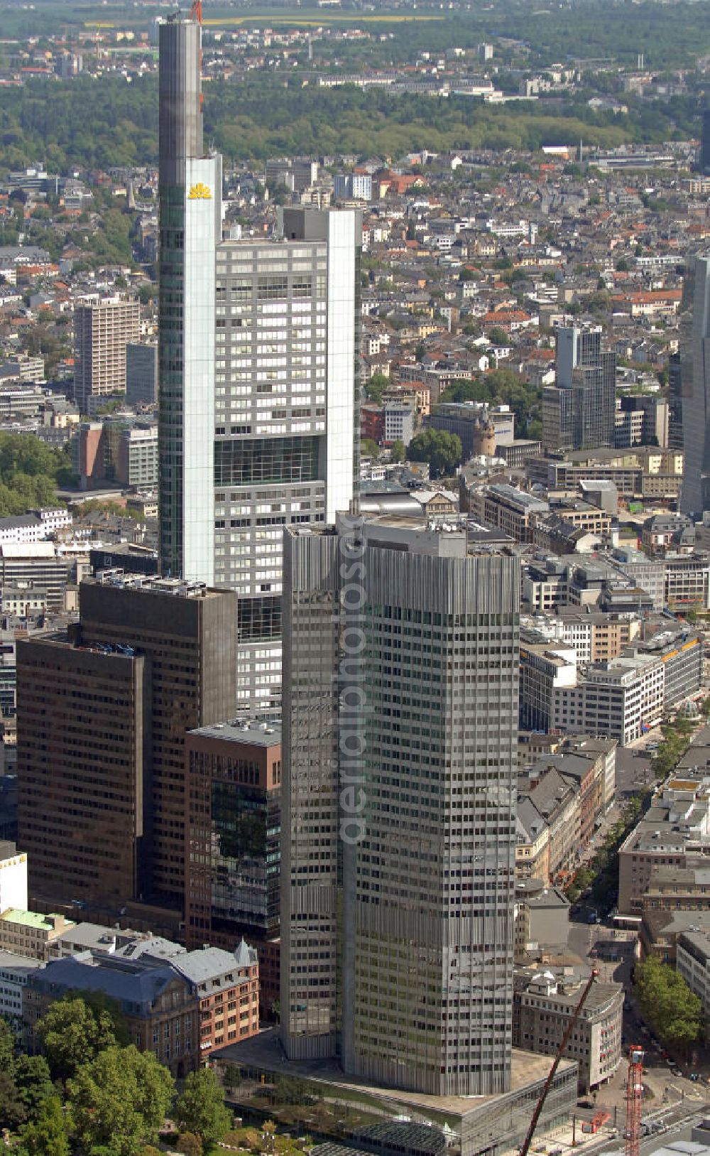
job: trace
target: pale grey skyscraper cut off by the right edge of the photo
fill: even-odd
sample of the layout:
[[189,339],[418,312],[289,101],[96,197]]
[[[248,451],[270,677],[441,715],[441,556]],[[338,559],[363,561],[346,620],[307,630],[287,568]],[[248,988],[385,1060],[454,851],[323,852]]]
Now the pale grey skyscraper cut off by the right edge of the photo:
[[710,257],[692,258],[683,280],[680,319],[683,481],[680,507],[710,510]]

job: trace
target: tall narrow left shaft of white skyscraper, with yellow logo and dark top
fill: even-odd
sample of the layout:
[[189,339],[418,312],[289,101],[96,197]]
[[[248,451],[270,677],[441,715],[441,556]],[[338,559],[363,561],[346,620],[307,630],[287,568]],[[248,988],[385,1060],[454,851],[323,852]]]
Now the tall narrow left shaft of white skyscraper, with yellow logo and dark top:
[[159,27],[160,564],[211,583],[222,158],[203,155],[200,38],[200,24],[178,15]]

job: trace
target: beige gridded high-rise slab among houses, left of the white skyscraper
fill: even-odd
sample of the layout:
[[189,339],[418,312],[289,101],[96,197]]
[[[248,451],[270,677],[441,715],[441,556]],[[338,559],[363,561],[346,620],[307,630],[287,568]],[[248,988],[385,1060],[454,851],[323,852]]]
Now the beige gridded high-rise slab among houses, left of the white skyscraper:
[[126,343],[137,341],[137,301],[111,298],[74,310],[74,401],[88,414],[90,398],[126,392]]

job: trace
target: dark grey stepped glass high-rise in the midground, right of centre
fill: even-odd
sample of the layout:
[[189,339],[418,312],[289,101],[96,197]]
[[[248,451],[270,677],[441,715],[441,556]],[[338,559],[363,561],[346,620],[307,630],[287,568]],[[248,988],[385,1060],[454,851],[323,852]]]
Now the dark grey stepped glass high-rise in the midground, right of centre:
[[616,357],[601,350],[601,331],[556,331],[556,385],[543,391],[543,444],[589,450],[614,444]]

